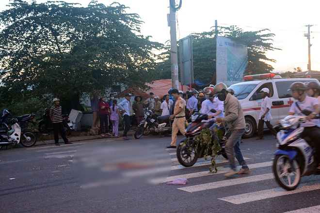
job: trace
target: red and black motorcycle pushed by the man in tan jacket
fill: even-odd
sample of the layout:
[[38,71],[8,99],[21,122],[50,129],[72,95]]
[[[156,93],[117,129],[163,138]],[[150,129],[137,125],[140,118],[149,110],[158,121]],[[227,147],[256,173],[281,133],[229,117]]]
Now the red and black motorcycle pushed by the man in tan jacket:
[[[216,110],[211,109],[212,113],[215,113]],[[213,122],[203,122],[204,120],[208,120],[207,114],[201,114],[199,112],[194,113],[191,116],[191,122],[188,124],[186,128],[186,137],[181,139],[180,144],[176,148],[176,157],[179,161],[179,163],[184,167],[192,167],[198,160],[198,158],[204,157],[205,153],[205,147],[197,147],[195,149],[195,143],[194,143],[194,137],[200,135],[200,132],[202,129],[209,128]],[[221,150],[218,151],[219,155],[224,156],[225,159],[228,159],[224,146],[226,143],[227,138],[230,136],[230,133],[228,133],[227,126],[224,126],[222,130],[224,131],[224,137],[219,139],[219,144],[221,146]],[[189,142],[187,142],[184,145],[185,140],[189,139]],[[212,137],[211,142],[213,143],[214,137]],[[197,151],[196,151],[197,150]],[[208,155],[212,154],[212,150],[209,149]]]

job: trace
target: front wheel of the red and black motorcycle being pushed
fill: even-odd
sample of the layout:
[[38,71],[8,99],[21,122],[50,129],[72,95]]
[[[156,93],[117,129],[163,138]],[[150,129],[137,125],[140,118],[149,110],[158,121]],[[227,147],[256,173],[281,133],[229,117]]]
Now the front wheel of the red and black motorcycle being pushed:
[[192,167],[198,160],[198,153],[195,152],[192,141],[185,146],[183,142],[176,148],[176,157],[179,163],[184,167]]

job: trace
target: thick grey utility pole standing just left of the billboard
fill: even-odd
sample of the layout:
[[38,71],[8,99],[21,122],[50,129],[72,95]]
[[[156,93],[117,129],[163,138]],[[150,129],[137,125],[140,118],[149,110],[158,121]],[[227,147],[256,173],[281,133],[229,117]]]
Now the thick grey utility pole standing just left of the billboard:
[[172,4],[172,0],[169,0],[170,14],[168,15],[168,24],[170,26],[170,49],[171,49],[171,79],[172,88],[179,90],[179,72],[178,72],[178,54],[176,46],[176,9]]

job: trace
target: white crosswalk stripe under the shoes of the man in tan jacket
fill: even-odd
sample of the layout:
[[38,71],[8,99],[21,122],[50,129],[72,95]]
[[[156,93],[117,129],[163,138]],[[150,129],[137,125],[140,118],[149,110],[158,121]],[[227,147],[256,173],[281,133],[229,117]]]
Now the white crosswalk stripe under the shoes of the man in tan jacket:
[[[257,163],[257,164],[250,164],[248,165],[249,168],[260,168],[260,167],[269,167],[272,165],[272,161],[268,162],[263,162],[263,163]],[[241,166],[239,166],[239,169]],[[177,178],[198,178],[198,177],[203,177],[203,176],[208,176],[208,175],[216,175],[216,174],[223,174],[226,173],[230,170],[229,167],[217,167],[218,171],[216,173],[209,173],[208,171],[201,171],[201,172],[194,172],[194,173],[188,173],[188,174],[181,174],[181,175],[176,175],[176,176],[169,176],[167,179],[162,182],[169,182],[169,181],[174,181]],[[171,169],[172,170],[172,169]]]

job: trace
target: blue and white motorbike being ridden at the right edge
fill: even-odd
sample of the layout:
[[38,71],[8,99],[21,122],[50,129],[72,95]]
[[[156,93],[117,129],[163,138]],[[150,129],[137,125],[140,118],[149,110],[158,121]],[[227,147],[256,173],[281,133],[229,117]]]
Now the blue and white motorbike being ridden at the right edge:
[[277,183],[286,190],[297,188],[303,176],[320,174],[316,150],[300,137],[304,131],[300,124],[306,121],[307,116],[289,115],[274,126],[282,129],[277,134],[278,150],[274,153],[273,174]]

